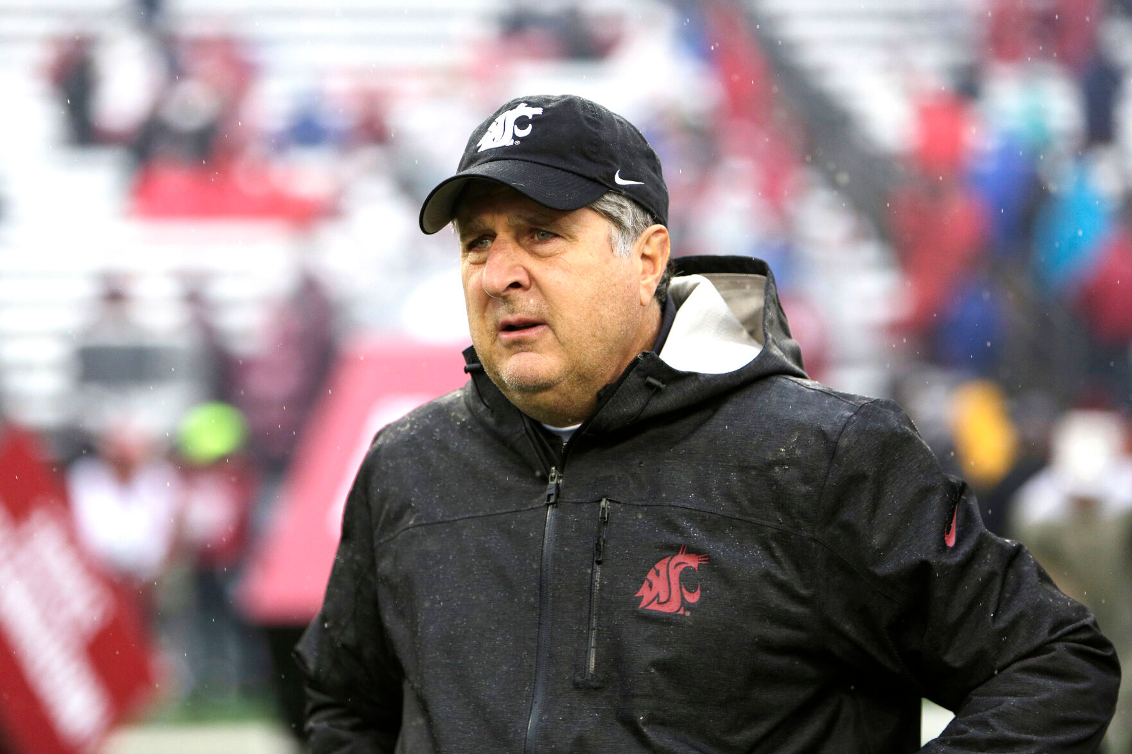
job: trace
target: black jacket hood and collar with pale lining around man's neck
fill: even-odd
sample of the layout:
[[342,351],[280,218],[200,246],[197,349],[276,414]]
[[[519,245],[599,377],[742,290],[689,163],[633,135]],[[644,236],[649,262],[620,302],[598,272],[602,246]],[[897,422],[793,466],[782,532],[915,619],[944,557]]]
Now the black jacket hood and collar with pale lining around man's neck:
[[[806,377],[765,262],[697,256],[674,263],[669,291],[678,309],[661,352],[638,354],[599,391],[597,411],[576,435],[627,429],[775,375]],[[474,386],[465,394],[470,409],[508,445],[530,447],[530,422],[483,371],[475,349],[464,359]]]

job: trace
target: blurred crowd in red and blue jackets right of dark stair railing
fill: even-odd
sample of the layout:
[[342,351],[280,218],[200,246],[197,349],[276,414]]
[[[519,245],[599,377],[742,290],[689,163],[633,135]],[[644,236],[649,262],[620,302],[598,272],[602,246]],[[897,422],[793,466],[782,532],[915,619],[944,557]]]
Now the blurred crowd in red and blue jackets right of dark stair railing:
[[[1132,122],[1125,9],[987,3],[980,59],[921,87],[889,234],[897,392],[984,522],[1132,656]],[[1132,749],[1132,687],[1108,737]]]

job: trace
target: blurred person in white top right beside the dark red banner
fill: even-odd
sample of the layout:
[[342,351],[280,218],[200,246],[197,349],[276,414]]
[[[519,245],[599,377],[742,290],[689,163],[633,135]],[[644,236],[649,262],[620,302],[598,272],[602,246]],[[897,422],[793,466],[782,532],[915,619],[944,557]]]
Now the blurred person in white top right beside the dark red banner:
[[180,480],[153,435],[119,418],[98,438],[95,456],[76,461],[67,491],[79,541],[122,584],[153,608],[153,588],[172,551]]

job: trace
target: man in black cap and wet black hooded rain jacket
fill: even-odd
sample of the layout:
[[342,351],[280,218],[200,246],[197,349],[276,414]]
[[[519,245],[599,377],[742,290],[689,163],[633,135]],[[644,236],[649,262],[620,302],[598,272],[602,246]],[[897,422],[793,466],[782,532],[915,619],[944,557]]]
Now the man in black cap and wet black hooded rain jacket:
[[378,432],[299,645],[321,752],[1090,752],[1118,668],[766,265],[684,258],[627,121],[513,100],[453,222],[471,380]]

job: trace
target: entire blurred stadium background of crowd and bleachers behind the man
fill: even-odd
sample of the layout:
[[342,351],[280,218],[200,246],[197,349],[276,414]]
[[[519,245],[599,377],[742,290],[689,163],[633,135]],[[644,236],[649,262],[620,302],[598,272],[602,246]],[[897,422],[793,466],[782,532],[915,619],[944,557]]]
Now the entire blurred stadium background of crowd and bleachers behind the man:
[[[811,375],[901,401],[1125,645],[1130,11],[0,0],[0,445],[35,448],[79,569],[155,658],[42,748],[0,706],[0,751],[299,751],[286,652],[358,448],[463,379],[457,257],[420,202],[526,93],[641,126],[675,252],[770,262]],[[9,552],[32,497],[0,520]],[[22,577],[55,631],[54,582]],[[50,686],[5,699],[50,708]]]

